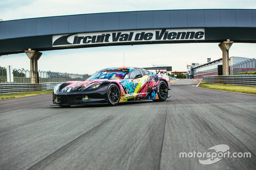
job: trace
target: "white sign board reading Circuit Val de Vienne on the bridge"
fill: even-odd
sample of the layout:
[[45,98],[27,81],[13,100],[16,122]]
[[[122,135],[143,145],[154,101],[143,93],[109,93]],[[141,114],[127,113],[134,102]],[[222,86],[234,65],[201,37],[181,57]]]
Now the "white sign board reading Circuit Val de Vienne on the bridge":
[[149,29],[94,33],[71,33],[52,36],[52,47],[142,41],[204,40],[204,28]]

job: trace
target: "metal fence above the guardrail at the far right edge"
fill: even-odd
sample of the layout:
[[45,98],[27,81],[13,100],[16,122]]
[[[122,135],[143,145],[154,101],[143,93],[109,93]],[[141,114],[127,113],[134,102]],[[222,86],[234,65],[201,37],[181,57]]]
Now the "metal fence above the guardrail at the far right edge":
[[256,71],[256,59],[242,61],[230,66],[230,74],[241,73],[246,71]]

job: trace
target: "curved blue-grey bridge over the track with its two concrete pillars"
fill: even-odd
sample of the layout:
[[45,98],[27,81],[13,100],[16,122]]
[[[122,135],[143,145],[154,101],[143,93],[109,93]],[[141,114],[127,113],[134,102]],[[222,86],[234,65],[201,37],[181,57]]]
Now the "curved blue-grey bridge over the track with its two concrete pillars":
[[256,10],[130,11],[0,22],[0,55],[26,53],[31,83],[39,51],[113,45],[219,42],[223,75],[233,42],[256,42]]

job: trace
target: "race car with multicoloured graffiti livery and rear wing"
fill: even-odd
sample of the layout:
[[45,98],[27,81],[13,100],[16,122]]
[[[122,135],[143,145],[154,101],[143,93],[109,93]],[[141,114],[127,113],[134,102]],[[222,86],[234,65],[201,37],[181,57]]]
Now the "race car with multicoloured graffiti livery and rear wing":
[[[171,70],[172,67],[149,69]],[[142,68],[119,67],[97,71],[84,81],[57,84],[52,93],[54,106],[109,104],[138,100],[164,101],[170,90],[169,77]],[[158,71],[159,72],[159,71]]]

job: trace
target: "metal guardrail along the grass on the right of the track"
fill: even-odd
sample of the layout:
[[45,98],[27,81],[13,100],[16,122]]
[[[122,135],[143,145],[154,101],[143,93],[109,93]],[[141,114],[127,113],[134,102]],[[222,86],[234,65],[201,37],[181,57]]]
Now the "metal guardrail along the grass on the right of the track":
[[256,87],[256,75],[203,76],[203,81],[207,83]]

